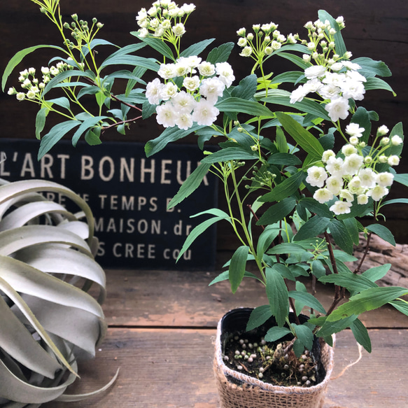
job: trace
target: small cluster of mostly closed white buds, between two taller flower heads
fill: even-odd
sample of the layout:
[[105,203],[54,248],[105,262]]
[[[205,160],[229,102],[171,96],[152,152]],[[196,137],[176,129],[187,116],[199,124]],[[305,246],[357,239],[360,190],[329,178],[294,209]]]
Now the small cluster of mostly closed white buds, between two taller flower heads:
[[[274,22],[269,22],[269,24],[254,24],[252,29],[254,33],[246,33],[245,28],[241,28],[237,31],[239,38],[238,45],[242,48],[242,57],[251,57],[253,53],[259,55],[271,55],[272,52],[279,50],[284,43],[295,44],[299,39],[297,34],[289,34],[288,37],[281,34],[277,29],[278,24]],[[254,44],[253,39],[256,38],[257,41]],[[263,38],[261,42],[258,42],[258,38]],[[257,55],[256,57],[258,57]]]

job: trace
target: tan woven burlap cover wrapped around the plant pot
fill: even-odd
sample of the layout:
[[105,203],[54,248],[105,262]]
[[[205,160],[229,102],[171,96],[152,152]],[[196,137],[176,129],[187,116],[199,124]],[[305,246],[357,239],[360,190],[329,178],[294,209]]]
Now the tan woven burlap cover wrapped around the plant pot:
[[[221,408],[323,408],[325,391],[333,370],[333,349],[324,344],[321,362],[325,378],[316,386],[282,387],[267,384],[241,372],[231,370],[224,364],[221,342],[221,324],[218,322],[214,373],[220,397]],[[239,385],[234,384],[236,381]]]

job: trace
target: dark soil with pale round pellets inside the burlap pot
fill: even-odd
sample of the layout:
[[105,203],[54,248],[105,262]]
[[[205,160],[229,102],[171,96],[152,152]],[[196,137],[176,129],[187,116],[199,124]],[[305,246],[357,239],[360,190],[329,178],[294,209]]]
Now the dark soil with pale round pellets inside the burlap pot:
[[[224,363],[232,370],[277,386],[314,386],[325,377],[321,365],[305,351],[297,358],[288,342],[265,342],[250,333],[232,334],[225,341]],[[319,367],[318,367],[319,366]]]

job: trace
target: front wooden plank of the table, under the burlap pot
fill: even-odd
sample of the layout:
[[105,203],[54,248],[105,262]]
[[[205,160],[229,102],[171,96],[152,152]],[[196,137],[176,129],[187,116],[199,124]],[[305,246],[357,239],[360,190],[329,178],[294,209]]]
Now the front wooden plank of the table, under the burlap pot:
[[[214,330],[110,329],[94,361],[80,365],[82,379],[69,393],[103,386],[120,367],[110,391],[82,402],[44,408],[216,408],[212,372]],[[339,379],[330,381],[324,408],[408,407],[401,366],[408,353],[408,330],[370,330],[373,352]],[[358,358],[351,332],[337,336],[336,377]]]

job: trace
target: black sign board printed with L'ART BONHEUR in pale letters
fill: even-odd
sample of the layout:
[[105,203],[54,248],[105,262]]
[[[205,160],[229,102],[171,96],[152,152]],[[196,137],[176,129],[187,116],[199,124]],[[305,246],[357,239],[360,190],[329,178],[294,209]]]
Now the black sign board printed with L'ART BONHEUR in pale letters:
[[[202,159],[197,146],[169,145],[146,157],[142,143],[78,143],[73,148],[61,141],[39,162],[38,146],[36,140],[0,139],[0,152],[6,154],[0,177],[55,181],[85,199],[94,213],[95,235],[101,242],[97,259],[103,267],[213,269],[215,226],[197,238],[177,264],[176,258],[192,228],[205,219],[190,216],[216,206],[216,178],[207,174],[195,193],[167,210]],[[53,193],[48,198],[65,204],[64,197]]]

